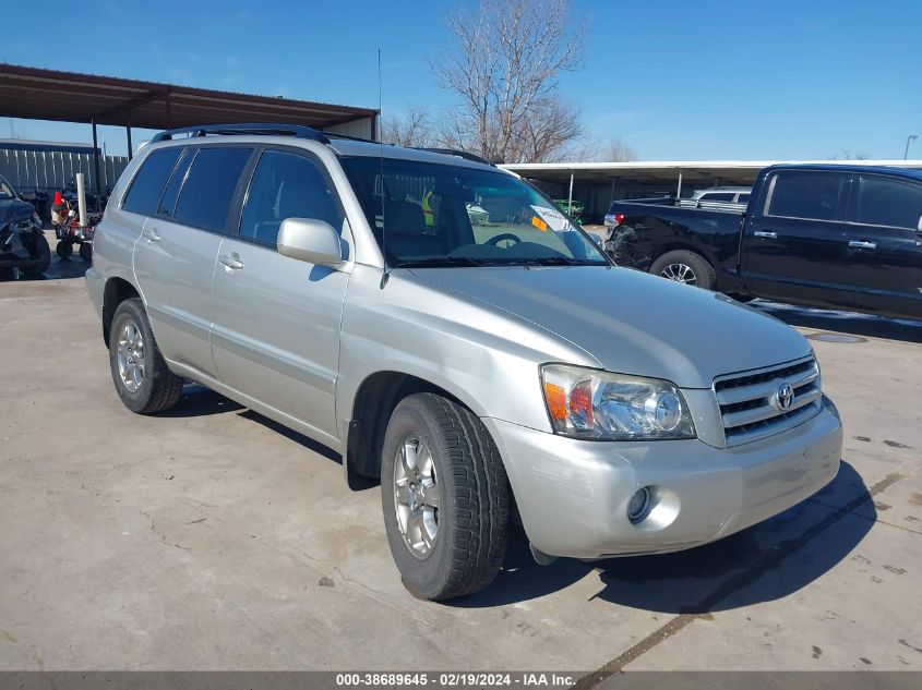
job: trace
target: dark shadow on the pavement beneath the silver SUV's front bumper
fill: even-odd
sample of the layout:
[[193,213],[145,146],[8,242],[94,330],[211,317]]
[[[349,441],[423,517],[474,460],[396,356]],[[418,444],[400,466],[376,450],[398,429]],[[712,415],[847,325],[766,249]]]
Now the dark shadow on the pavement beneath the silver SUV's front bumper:
[[[675,554],[613,558],[594,564],[560,559],[541,567],[524,534],[490,588],[450,605],[479,608],[528,601],[561,590],[591,570],[603,589],[595,595],[620,606],[703,614],[788,596],[846,558],[871,530],[874,512],[861,476],[842,462],[819,494],[719,542]],[[814,538],[822,533],[822,538]]]

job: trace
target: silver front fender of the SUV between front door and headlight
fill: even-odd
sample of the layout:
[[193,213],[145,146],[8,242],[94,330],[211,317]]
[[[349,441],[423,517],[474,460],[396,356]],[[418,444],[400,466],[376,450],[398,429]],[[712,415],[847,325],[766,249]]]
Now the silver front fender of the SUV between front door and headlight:
[[356,266],[343,308],[336,416],[346,437],[362,382],[379,372],[435,385],[480,417],[550,431],[539,366],[599,363],[524,319],[395,271]]

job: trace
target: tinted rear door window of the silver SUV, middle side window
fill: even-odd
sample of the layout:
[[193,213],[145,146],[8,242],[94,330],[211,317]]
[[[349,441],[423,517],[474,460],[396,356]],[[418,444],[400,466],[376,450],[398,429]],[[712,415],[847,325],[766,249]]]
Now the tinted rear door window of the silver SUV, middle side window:
[[249,148],[199,149],[185,175],[173,219],[203,230],[223,232],[234,191],[251,153]]

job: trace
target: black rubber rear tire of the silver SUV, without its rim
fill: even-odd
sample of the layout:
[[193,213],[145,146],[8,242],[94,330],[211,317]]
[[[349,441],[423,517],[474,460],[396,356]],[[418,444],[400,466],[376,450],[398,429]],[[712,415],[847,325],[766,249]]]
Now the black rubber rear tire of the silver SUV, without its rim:
[[[131,390],[119,373],[119,342],[122,330],[129,324],[140,331],[143,343],[140,358],[143,362],[143,376],[136,390]],[[182,395],[182,378],[167,367],[154,339],[154,331],[151,330],[144,304],[139,298],[124,300],[112,316],[109,329],[109,368],[119,398],[124,407],[137,414],[169,410],[179,402]]]

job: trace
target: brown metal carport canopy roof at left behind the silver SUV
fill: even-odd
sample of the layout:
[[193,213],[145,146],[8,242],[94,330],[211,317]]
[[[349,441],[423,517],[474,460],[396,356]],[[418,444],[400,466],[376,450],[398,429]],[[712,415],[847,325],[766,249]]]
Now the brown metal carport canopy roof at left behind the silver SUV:
[[168,130],[221,122],[324,129],[378,111],[0,63],[0,117]]

